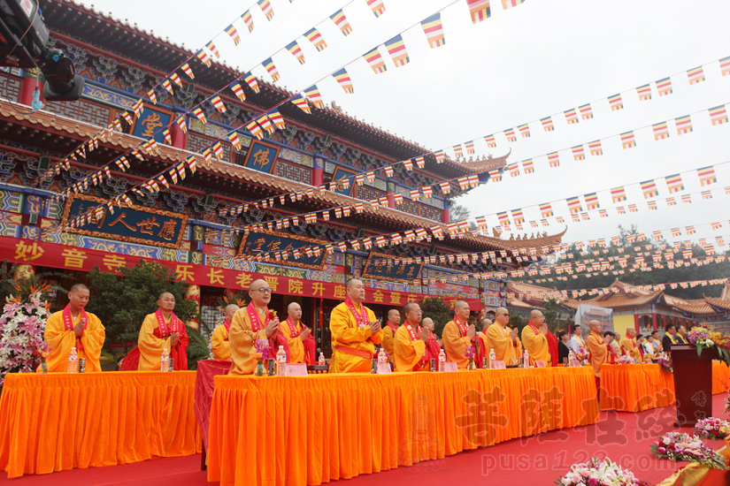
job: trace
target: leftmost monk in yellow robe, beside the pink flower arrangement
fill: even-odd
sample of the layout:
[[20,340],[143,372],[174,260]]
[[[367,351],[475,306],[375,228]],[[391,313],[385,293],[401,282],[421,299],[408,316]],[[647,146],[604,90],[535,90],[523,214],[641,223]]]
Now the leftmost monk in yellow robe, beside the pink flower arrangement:
[[76,348],[79,360],[86,360],[86,371],[101,371],[99,357],[104,346],[105,331],[96,315],[86,312],[88,287],[76,284],[68,292],[68,305],[54,312],[46,322],[45,340],[49,356],[46,365],[50,373],[68,370],[68,354]]

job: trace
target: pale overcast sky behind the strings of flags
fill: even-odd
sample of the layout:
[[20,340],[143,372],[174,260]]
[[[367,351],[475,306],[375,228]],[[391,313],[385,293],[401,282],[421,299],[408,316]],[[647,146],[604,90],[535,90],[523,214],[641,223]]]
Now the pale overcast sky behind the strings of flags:
[[[545,157],[730,102],[730,76],[721,77],[718,63],[711,63],[730,56],[727,0],[527,0],[508,11],[492,0],[492,17],[476,25],[466,0],[384,0],[386,12],[377,19],[365,0],[271,4],[271,22],[253,1],[95,0],[94,7],[190,49],[217,36],[215,43],[228,65],[253,69],[269,82],[261,62],[296,38],[306,64],[299,65],[286,50],[275,55],[280,86],[299,91],[317,83],[327,103],[334,101],[351,116],[426,148],[476,140],[479,156],[501,156],[511,148],[508,162],[533,158],[534,174],[507,176],[459,198],[472,216],[524,209],[528,222],[540,219],[534,205],[603,191],[598,197],[601,208],[609,209],[607,218],[594,211],[590,221],[572,223],[565,202],[553,204],[556,214],[566,216],[564,241],[610,238],[618,234],[619,224],[637,224],[647,234],[694,224],[697,233],[690,238],[714,242],[715,236],[730,236],[730,196],[723,190],[730,186],[730,163],[715,167],[718,183],[705,188],[714,189],[712,200],[702,201],[697,194],[691,204],[666,208],[664,203],[665,176],[730,161],[730,124],[711,126],[706,111],[692,116],[693,133],[678,136],[672,121],[669,140],[655,141],[649,128],[635,132],[636,148],[622,149],[614,137],[603,141],[603,156],[588,155],[586,147],[586,160],[573,162],[569,151],[561,152],[559,168],[549,168]],[[249,7],[252,34],[238,19]],[[328,19],[342,7],[353,28],[347,37]],[[436,11],[442,11],[446,45],[430,49],[419,22]],[[238,47],[227,34],[219,34],[234,19],[242,38]],[[381,48],[388,72],[376,75],[360,58],[414,25],[403,34],[410,64],[396,68]],[[327,42],[322,52],[301,37],[311,27],[318,27]],[[355,59],[347,67],[355,94],[347,95],[328,74]],[[689,86],[686,71],[706,63],[711,63],[704,66],[706,80]],[[674,93],[659,97],[654,81],[672,74]],[[328,79],[320,81],[323,77]],[[635,87],[647,83],[652,83],[652,100],[639,101]],[[622,95],[625,109],[611,111],[605,98],[627,90]],[[589,102],[595,102],[593,119],[565,123],[563,111]],[[508,128],[517,132],[518,125],[548,115],[553,116],[554,132],[545,133],[539,123],[532,123],[529,139],[518,134],[517,142],[508,143],[497,134],[496,148],[482,140]],[[657,179],[657,211],[647,210],[638,185],[628,186],[649,178]],[[695,173],[682,178],[686,191],[680,194],[701,191]],[[636,203],[638,212],[619,216],[610,209],[616,205],[608,190],[615,186],[626,186],[625,204]],[[674,194],[678,200],[680,194]],[[496,224],[496,216],[488,220],[490,226]],[[722,229],[711,231],[709,223],[718,220],[723,221]],[[554,222],[550,218],[548,231],[562,231]],[[525,231],[533,230],[526,224]],[[672,240],[668,231],[665,237]]]

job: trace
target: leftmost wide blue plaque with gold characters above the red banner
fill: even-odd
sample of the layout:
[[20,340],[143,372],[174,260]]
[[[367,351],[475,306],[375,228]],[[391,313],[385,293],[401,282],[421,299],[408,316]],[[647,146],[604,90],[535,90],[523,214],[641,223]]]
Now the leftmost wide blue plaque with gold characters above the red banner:
[[[134,204],[114,206],[114,214],[111,214],[105,202],[105,199],[94,196],[72,194],[65,203],[61,224],[85,213],[91,217],[89,222],[77,228],[69,227],[66,232],[156,247],[180,247],[185,225],[188,224],[188,215]],[[99,206],[104,210],[97,216],[95,209]]]

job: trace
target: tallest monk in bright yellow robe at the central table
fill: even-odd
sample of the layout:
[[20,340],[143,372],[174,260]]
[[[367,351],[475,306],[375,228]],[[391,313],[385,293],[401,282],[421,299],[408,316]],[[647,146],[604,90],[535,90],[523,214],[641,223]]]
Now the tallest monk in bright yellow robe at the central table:
[[383,340],[383,331],[375,314],[363,305],[365,284],[351,278],[345,285],[346,298],[332,309],[329,330],[332,335],[330,373],[369,373],[375,345]]

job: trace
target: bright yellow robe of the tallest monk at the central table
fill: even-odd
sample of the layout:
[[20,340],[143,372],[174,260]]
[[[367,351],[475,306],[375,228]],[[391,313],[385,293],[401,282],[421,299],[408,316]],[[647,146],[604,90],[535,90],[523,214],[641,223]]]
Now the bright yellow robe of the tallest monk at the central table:
[[[353,302],[350,301],[350,304],[355,308]],[[355,309],[357,311],[357,308]],[[367,325],[375,321],[375,313],[372,310],[362,306],[359,314],[356,318],[348,308],[347,300],[332,309],[332,314],[329,316],[333,350],[332,359],[329,361],[330,373],[370,372],[370,360],[375,353],[375,345],[379,345],[383,340],[383,330],[373,334]]]

